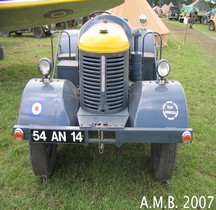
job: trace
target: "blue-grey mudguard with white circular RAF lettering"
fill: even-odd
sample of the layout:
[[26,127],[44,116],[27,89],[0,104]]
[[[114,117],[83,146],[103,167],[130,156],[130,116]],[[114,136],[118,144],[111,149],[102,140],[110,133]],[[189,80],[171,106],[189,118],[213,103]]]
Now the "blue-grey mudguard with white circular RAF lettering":
[[129,98],[131,127],[188,128],[184,90],[177,81],[133,83]]

